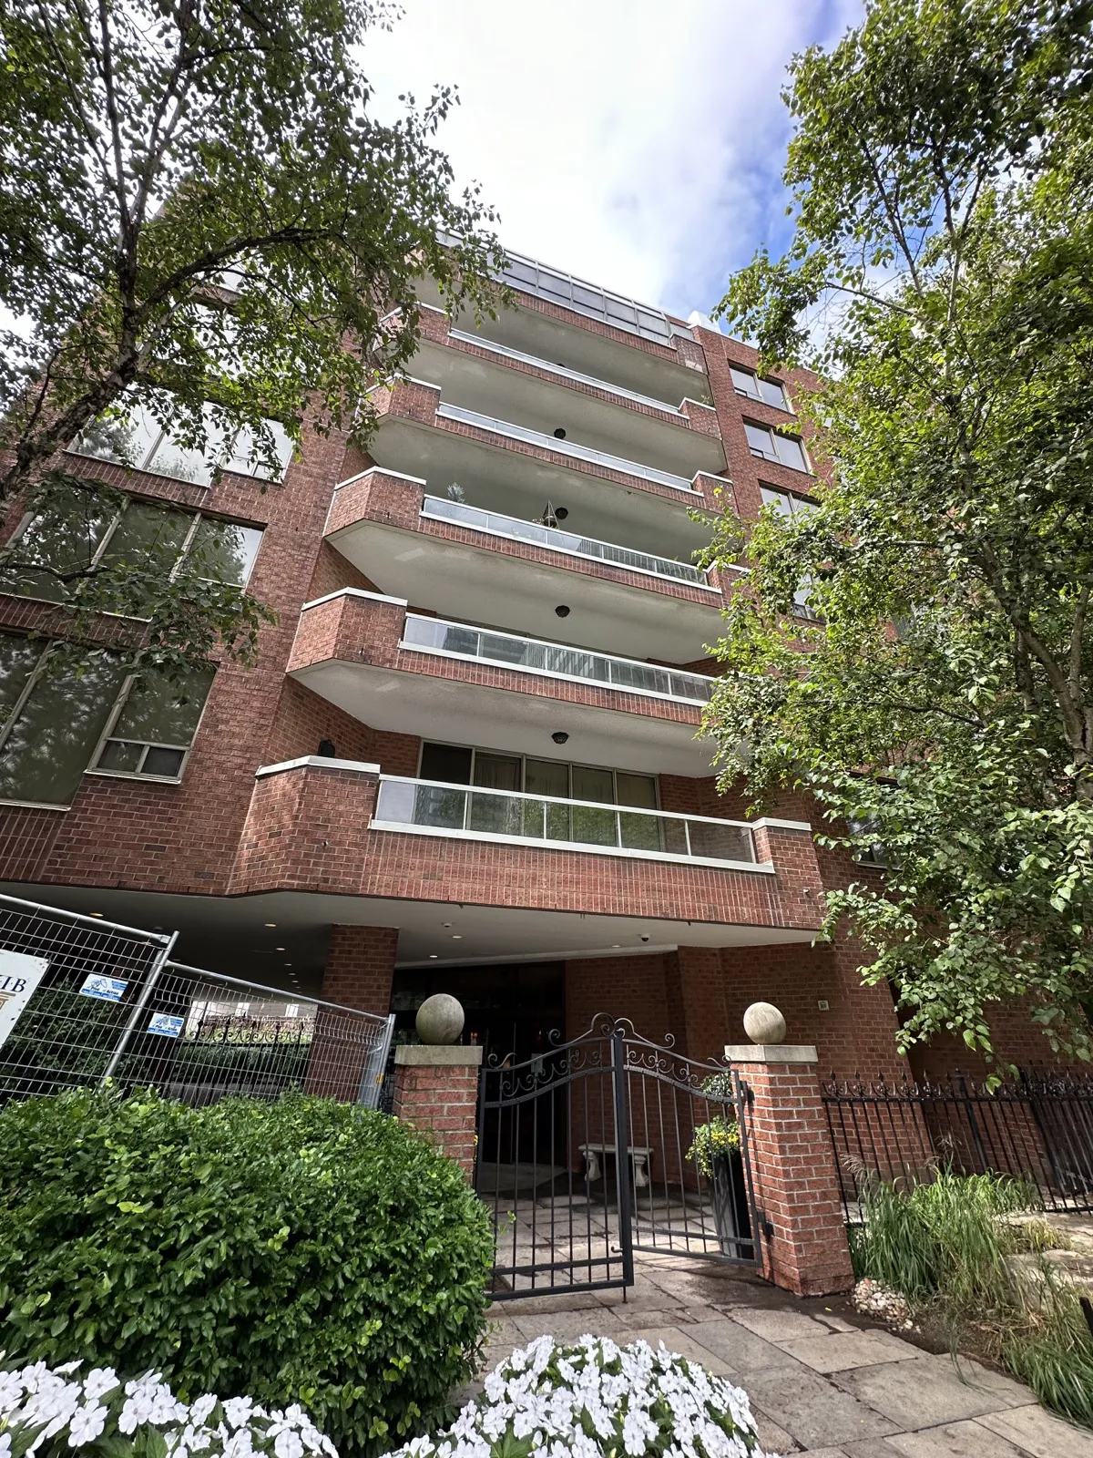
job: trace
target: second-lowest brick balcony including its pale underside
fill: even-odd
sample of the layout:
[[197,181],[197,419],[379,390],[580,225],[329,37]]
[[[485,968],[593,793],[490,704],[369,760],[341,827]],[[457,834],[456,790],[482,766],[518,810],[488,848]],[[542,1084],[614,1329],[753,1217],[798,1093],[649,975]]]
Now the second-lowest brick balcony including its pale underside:
[[[702,776],[713,679],[407,611],[347,588],[309,602],[289,672],[373,729],[643,774]],[[561,741],[554,739],[563,735]]]

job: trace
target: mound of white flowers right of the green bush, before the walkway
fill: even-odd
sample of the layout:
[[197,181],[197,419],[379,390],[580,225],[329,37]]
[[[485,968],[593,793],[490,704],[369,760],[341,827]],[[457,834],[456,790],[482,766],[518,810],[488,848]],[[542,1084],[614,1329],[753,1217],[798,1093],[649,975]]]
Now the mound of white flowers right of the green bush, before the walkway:
[[762,1458],[748,1397],[647,1341],[539,1337],[443,1433],[389,1458]]

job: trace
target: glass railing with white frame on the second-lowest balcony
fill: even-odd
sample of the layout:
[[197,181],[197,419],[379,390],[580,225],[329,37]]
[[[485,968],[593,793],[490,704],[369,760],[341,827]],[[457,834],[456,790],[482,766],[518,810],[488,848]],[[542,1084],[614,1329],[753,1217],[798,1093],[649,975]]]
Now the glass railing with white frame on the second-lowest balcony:
[[678,698],[688,704],[707,703],[714,688],[714,679],[702,674],[683,674],[632,658],[609,658],[583,647],[494,633],[466,623],[447,623],[444,618],[420,618],[412,612],[407,614],[399,647],[431,649],[453,658],[495,663],[498,668],[548,674],[551,678],[568,678],[631,694],[651,694],[656,698]]

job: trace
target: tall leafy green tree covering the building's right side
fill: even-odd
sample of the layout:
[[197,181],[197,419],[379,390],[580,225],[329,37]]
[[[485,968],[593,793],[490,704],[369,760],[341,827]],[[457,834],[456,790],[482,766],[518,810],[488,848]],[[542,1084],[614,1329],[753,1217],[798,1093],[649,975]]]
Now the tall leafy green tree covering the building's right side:
[[[803,786],[823,841],[883,847],[828,933],[890,980],[904,1045],[990,1056],[991,1005],[1022,999],[1090,1053],[1090,15],[873,0],[799,55],[793,239],[720,305],[825,381],[800,411],[829,471],[751,534],[710,725],[726,779]],[[714,554],[740,547],[726,518]]]

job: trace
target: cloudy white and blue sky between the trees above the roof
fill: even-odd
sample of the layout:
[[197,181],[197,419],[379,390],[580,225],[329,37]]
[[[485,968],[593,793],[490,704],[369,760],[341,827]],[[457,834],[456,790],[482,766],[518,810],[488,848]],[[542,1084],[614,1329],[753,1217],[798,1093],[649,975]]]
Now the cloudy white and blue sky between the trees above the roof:
[[786,241],[786,64],[860,16],[860,0],[402,3],[364,47],[380,109],[455,83],[439,144],[503,242],[683,316]]

